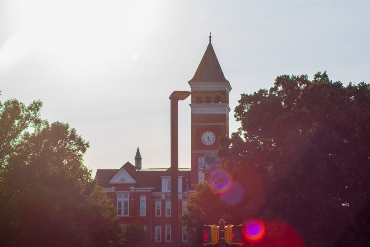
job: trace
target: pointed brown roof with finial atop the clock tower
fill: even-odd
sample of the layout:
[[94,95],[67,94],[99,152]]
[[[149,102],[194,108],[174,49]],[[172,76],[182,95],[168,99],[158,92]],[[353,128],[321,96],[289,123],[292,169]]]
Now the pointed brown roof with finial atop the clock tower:
[[211,43],[211,31],[209,32],[209,44],[196,69],[193,78],[189,82],[229,82],[223,75],[221,66],[216,57]]

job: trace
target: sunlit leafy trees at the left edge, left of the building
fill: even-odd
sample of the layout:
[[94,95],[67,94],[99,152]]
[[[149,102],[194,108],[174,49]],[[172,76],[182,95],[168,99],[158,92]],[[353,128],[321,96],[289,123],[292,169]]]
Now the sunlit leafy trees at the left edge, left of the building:
[[119,246],[115,209],[83,165],[89,143],[41,106],[0,103],[0,245]]

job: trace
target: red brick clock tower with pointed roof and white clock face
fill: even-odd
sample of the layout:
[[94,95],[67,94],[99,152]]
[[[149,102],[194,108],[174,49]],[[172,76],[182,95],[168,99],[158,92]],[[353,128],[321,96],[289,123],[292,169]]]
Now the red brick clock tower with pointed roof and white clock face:
[[229,92],[231,86],[223,75],[211,43],[203,55],[191,87],[191,189],[204,180],[206,153],[215,153],[217,139],[229,136]]

